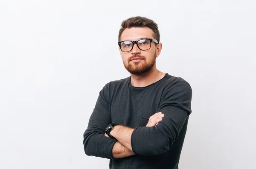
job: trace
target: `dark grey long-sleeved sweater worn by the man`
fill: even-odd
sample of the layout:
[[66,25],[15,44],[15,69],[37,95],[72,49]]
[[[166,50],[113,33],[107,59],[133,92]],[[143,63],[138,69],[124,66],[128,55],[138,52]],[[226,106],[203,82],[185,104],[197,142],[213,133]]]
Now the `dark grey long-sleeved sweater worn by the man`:
[[[109,82],[100,91],[84,132],[85,154],[110,159],[111,169],[178,169],[191,99],[189,83],[168,73],[146,87],[133,87],[131,77]],[[165,115],[163,120],[145,127],[157,112]],[[135,128],[131,146],[136,155],[113,158],[117,140],[104,135],[110,123]]]

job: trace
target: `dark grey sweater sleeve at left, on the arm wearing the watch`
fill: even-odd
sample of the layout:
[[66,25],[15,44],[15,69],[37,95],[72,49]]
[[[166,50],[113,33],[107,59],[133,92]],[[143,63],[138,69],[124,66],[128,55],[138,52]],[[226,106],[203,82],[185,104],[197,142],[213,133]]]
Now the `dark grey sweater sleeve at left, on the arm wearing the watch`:
[[112,149],[116,139],[108,138],[105,128],[111,123],[108,84],[99,93],[87,130],[84,132],[84,152],[101,158],[113,159]]

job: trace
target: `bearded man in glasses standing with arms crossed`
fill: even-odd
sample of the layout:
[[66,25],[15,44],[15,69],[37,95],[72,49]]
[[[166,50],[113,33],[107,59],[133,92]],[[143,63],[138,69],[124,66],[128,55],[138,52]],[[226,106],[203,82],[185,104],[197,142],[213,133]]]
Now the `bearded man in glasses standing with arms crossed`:
[[162,44],[154,21],[124,20],[118,41],[131,76],[100,91],[84,132],[85,154],[110,159],[111,169],[178,169],[192,89],[157,70]]

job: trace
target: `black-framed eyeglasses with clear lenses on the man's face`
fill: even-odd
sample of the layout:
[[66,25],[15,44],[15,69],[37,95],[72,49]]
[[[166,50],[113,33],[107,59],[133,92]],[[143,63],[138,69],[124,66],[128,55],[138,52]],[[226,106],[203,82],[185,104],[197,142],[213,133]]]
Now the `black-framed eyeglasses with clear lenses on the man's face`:
[[121,51],[123,51],[123,52],[131,51],[134,44],[137,44],[137,46],[140,50],[146,51],[151,48],[152,41],[155,42],[156,44],[158,44],[156,39],[145,38],[145,39],[140,39],[140,40],[136,40],[136,41],[130,41],[130,40],[121,41],[121,42],[118,42],[118,45],[119,45]]

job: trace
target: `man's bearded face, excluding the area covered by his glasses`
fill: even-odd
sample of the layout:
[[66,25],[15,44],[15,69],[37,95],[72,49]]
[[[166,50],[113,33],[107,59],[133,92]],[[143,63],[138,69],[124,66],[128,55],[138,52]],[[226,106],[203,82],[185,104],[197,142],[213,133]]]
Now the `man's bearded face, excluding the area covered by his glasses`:
[[[148,27],[126,28],[120,37],[120,41],[136,41],[143,38],[154,39],[153,31]],[[156,64],[157,56],[160,54],[160,52],[158,52],[159,49],[154,42],[151,42],[151,48],[146,51],[140,50],[136,44],[134,44],[132,50],[129,52],[122,52],[120,48],[119,51],[126,70],[137,75],[151,70]]]

